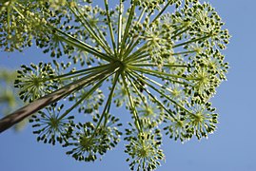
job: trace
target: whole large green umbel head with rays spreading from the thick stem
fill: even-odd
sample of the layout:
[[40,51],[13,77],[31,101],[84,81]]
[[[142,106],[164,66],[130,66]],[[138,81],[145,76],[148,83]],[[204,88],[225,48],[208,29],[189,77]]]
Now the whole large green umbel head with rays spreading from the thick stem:
[[[162,127],[181,142],[207,138],[216,129],[217,114],[209,101],[226,80],[222,50],[230,36],[219,14],[198,0],[120,0],[114,8],[108,0],[104,7],[94,3],[52,0],[6,6],[10,10],[0,17],[0,46],[22,49],[34,39],[49,56],[71,59],[18,71],[15,86],[25,102],[44,95],[70,102],[61,115],[51,105],[49,114],[41,111],[31,118],[39,141],[63,142],[75,160],[95,161],[119,142],[121,124],[109,113],[112,104],[124,104],[133,121],[124,138],[130,169],[154,170],[165,159]],[[24,19],[25,12],[31,22]],[[12,13],[16,20],[4,21]],[[21,31],[39,18],[35,31]],[[21,22],[14,27],[15,21]],[[14,35],[18,43],[11,39]],[[87,114],[85,123],[69,121],[74,109]]]

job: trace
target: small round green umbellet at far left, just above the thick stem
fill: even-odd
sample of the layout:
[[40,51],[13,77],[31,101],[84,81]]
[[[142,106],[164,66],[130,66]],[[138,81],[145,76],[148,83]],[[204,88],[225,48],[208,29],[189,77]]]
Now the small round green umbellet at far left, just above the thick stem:
[[69,77],[75,74],[75,68],[64,74],[68,70],[70,63],[57,62],[52,63],[40,62],[38,65],[22,65],[22,70],[17,70],[17,77],[14,87],[19,88],[20,99],[24,102],[32,102],[44,95],[56,90],[58,87],[68,85],[78,76]]

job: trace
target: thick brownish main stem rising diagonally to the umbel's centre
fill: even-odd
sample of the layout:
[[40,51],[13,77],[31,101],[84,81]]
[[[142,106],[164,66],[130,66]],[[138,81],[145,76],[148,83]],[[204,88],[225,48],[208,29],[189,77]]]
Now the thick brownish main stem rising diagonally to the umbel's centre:
[[116,68],[117,66],[115,65],[115,63],[113,63],[112,65],[109,65],[109,68],[106,70],[91,73],[88,76],[85,76],[73,83],[70,83],[69,85],[65,85],[64,87],[17,109],[10,115],[0,120],[0,133],[10,128],[13,124],[21,122],[25,118],[48,106],[49,104],[58,102],[62,98],[68,96],[70,93],[79,90],[82,87],[88,86],[92,83],[95,83],[100,79],[108,77],[116,71]]

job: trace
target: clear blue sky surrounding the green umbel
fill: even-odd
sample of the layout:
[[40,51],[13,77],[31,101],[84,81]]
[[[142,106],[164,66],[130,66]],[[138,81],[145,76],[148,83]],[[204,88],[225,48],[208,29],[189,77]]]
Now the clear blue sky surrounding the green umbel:
[[[230,69],[228,81],[219,88],[213,105],[220,114],[217,131],[207,140],[193,139],[184,144],[164,140],[166,162],[159,171],[255,171],[256,133],[256,1],[210,0],[226,22],[232,38],[224,52]],[[47,56],[32,50],[0,53],[0,66],[15,68],[26,62],[42,61]],[[128,171],[124,144],[109,151],[102,161],[74,161],[58,145],[36,142],[30,126],[17,134],[0,134],[0,170],[5,171]]]

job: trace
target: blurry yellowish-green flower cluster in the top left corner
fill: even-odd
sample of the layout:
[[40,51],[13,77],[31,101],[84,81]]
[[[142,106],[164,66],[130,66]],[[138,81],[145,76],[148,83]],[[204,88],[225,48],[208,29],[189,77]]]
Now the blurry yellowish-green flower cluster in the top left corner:
[[46,19],[36,17],[34,12],[30,12],[38,10],[38,5],[25,1],[7,1],[1,2],[0,7],[1,49],[22,51],[25,47],[32,46],[37,32],[46,32],[46,28],[42,27],[46,24]]

